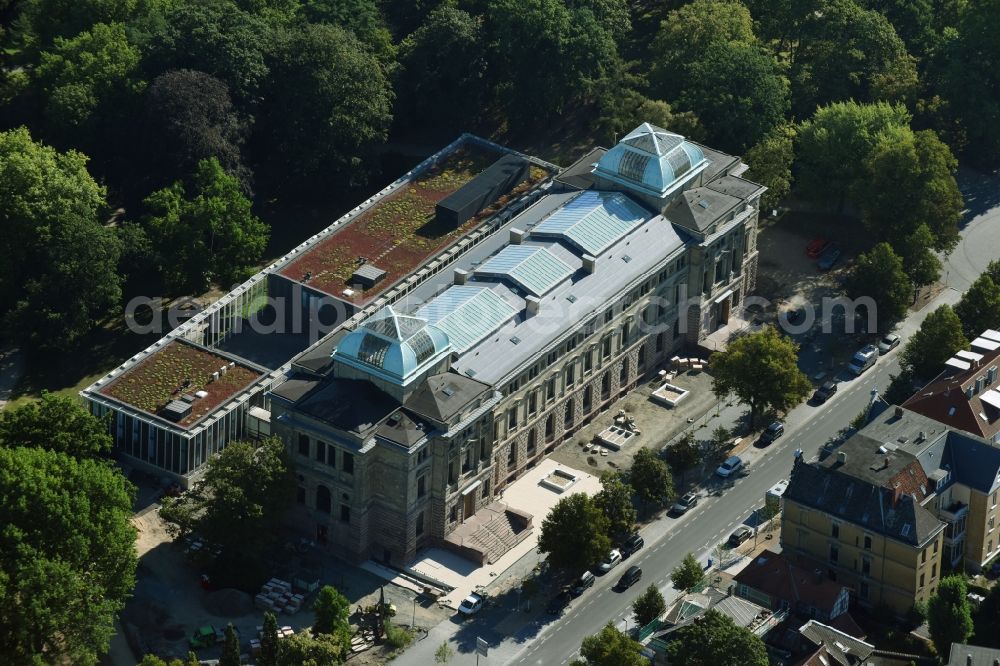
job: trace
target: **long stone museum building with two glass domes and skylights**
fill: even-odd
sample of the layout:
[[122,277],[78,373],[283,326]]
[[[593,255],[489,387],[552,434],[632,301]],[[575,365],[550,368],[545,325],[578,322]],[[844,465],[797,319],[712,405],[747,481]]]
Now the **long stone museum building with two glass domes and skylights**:
[[293,364],[271,411],[300,527],[353,559],[502,555],[531,517],[499,493],[752,286],[764,188],[743,169],[643,125],[450,271],[348,322],[332,362],[308,355],[323,373]]

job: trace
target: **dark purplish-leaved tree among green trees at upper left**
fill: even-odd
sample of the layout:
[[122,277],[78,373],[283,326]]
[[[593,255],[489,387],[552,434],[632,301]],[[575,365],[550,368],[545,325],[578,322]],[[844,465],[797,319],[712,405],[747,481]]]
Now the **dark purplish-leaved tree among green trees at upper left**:
[[139,142],[143,169],[162,184],[214,157],[246,189],[251,178],[240,152],[246,128],[225,83],[191,69],[164,72],[146,90]]

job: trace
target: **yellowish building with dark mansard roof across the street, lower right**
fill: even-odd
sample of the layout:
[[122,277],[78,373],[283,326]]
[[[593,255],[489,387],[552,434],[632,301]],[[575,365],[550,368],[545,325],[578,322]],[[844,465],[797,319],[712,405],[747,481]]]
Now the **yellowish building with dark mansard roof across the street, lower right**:
[[1000,449],[902,407],[885,410],[822,462],[796,458],[781,542],[800,566],[898,613],[943,570],[1000,552]]

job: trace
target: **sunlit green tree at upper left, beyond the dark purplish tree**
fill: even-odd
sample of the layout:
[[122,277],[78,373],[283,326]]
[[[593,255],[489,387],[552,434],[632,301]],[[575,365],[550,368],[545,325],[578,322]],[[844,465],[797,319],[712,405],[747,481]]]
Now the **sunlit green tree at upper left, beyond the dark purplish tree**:
[[112,112],[141,90],[139,58],[121,23],[97,23],[71,39],[56,37],[35,71],[49,121],[63,136],[72,132],[86,140],[99,110]]

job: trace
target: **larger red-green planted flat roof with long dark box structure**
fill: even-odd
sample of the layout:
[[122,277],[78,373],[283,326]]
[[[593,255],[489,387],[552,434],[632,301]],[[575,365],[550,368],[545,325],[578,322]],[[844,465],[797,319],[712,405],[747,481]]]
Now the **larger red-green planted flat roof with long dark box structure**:
[[[528,179],[515,187],[494,206],[474,216],[458,228],[435,223],[435,206],[456,192],[504,153],[474,141],[464,141],[438,162],[395,192],[379,199],[343,227],[295,257],[278,273],[303,282],[336,298],[352,300],[364,307],[387,291],[415,268],[471,231],[510,198],[516,197],[550,174],[536,164]],[[364,259],[364,262],[361,261]],[[370,288],[351,284],[362,263],[386,272],[384,279]],[[304,281],[306,275],[309,279]],[[345,289],[353,290],[348,298]]]

